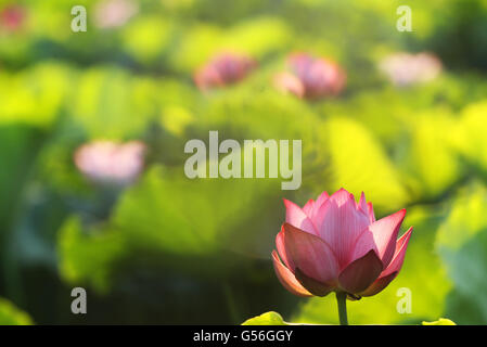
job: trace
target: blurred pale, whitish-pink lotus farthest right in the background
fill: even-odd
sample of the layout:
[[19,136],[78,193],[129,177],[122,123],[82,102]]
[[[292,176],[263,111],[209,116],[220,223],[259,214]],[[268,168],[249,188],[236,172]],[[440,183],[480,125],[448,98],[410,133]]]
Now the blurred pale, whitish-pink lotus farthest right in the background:
[[431,53],[395,53],[380,63],[380,69],[396,86],[409,86],[435,79],[441,72],[441,62]]

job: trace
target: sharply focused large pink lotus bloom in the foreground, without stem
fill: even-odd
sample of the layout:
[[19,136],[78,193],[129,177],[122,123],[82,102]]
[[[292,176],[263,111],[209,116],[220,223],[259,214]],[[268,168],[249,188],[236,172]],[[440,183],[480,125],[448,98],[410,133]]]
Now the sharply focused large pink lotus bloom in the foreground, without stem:
[[272,252],[282,285],[298,296],[345,293],[348,298],[375,295],[401,269],[410,228],[397,234],[406,210],[375,220],[362,193],[359,203],[341,189],[322,193],[303,208],[284,200],[285,222]]

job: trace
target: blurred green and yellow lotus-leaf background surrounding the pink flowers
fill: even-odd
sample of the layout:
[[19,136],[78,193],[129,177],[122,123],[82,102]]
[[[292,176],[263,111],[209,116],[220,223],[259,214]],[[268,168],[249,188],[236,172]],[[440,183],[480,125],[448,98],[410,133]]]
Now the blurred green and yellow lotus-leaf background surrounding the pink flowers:
[[[0,1],[0,323],[240,324],[269,310],[337,323],[334,296],[287,293],[270,252],[282,197],[341,187],[364,191],[377,217],[406,207],[414,226],[399,277],[350,303],[351,323],[487,323],[487,1],[130,1],[114,26],[102,2]],[[71,30],[77,4],[87,33]],[[396,29],[401,4],[411,33]],[[201,92],[193,73],[228,49],[258,67]],[[337,62],[344,92],[277,91],[294,51]],[[443,73],[396,87],[377,64],[397,51],[433,52]],[[189,180],[184,144],[208,130],[303,139],[300,189]],[[100,139],[148,145],[133,184],[77,169],[76,149]],[[87,314],[71,312],[75,286]],[[400,287],[411,313],[396,310]]]

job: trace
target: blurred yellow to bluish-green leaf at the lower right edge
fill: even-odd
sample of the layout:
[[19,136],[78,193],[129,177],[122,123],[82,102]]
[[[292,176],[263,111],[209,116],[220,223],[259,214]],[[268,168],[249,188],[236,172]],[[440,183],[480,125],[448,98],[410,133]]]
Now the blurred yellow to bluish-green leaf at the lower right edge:
[[486,204],[483,185],[465,189],[452,201],[438,230],[436,246],[454,283],[448,316],[459,323],[472,323],[470,317],[487,322],[487,299],[482,295],[487,288]]

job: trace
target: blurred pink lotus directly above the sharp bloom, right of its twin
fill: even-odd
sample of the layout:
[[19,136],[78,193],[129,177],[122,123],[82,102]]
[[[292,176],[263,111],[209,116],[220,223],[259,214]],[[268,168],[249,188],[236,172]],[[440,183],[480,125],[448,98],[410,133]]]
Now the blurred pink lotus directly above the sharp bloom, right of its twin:
[[274,78],[274,86],[299,98],[319,99],[338,94],[345,87],[346,74],[335,63],[306,53],[294,53],[287,59],[290,73]]

